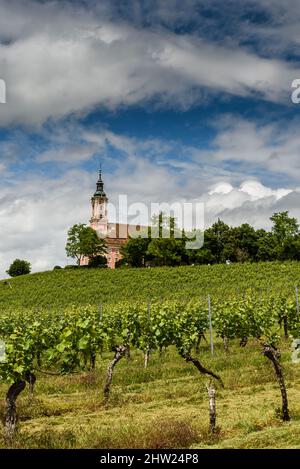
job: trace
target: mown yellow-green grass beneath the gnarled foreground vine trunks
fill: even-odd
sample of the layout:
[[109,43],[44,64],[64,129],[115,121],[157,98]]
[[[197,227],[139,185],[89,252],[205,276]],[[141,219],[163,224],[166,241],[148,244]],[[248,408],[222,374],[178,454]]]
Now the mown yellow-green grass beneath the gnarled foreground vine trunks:
[[[35,396],[18,399],[19,431],[15,448],[300,448],[300,367],[282,342],[291,422],[278,417],[280,391],[272,365],[258,345],[230,344],[224,353],[217,341],[215,356],[202,344],[201,361],[221,374],[217,390],[218,431],[208,431],[205,383],[175,350],[153,353],[149,367],[133,352],[115,369],[109,406],[102,387],[110,359],[98,359],[95,373],[39,375]],[[1,384],[4,397],[7,386]],[[0,407],[3,417],[4,403]],[[8,447],[0,438],[0,447]]]

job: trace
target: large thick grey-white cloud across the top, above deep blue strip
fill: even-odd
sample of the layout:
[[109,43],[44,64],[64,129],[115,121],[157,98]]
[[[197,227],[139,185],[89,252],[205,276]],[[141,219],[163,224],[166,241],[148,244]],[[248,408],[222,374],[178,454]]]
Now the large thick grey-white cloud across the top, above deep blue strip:
[[7,104],[1,107],[1,125],[41,125],[99,105],[117,109],[151,100],[186,109],[209,93],[288,105],[290,84],[300,76],[291,62],[191,33],[142,29],[112,20],[107,8],[103,13],[77,3],[61,8],[58,2],[32,1],[4,2],[1,8],[0,21],[10,29],[13,21],[18,25],[17,32],[6,26],[2,33]]

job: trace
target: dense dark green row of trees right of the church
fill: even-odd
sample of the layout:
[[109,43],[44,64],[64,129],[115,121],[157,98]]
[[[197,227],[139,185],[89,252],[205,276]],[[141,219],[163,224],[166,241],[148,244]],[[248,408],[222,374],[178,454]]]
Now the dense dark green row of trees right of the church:
[[[288,211],[274,213],[270,231],[255,229],[248,223],[232,227],[218,219],[204,232],[200,249],[186,249],[187,236],[175,236],[174,218],[160,214],[159,237],[129,239],[122,248],[119,266],[144,267],[156,265],[219,264],[225,262],[259,262],[300,260],[300,231],[296,218]],[[169,229],[170,236],[163,237]]]

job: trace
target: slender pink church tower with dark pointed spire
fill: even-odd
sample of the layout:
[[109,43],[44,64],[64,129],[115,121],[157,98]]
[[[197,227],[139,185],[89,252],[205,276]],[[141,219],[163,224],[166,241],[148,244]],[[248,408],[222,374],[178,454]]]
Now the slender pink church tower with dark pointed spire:
[[102,171],[99,171],[99,179],[97,182],[96,192],[92,199],[92,218],[90,219],[90,226],[96,230],[101,237],[106,237],[108,233],[108,214],[107,204],[108,198],[104,192],[104,183],[102,181]]

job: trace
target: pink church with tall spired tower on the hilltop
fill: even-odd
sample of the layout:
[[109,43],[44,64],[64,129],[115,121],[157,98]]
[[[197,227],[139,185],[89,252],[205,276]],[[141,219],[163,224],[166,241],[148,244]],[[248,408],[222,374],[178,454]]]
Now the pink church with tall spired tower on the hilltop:
[[[99,179],[96,186],[96,192],[91,198],[92,217],[90,219],[90,227],[101,234],[106,243],[107,267],[115,269],[116,262],[122,259],[121,247],[127,243],[129,239],[130,225],[120,223],[110,223],[108,221],[108,197],[104,191],[104,183],[102,181],[102,171],[99,171]],[[134,227],[139,231],[140,227]],[[84,257],[80,261],[80,265],[88,265],[89,259]]]

